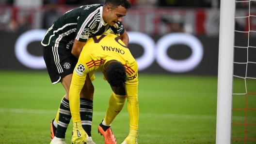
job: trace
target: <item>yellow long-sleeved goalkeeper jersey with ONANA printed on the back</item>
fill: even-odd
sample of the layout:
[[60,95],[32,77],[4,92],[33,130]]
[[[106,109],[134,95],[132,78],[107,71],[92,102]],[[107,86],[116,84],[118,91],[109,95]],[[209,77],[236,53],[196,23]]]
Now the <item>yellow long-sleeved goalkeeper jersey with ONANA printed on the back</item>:
[[[69,90],[70,111],[73,122],[80,120],[80,91],[84,85],[86,74],[91,80],[95,79],[94,72],[103,72],[104,64],[109,60],[120,61],[126,68],[127,98],[136,99],[138,109],[138,66],[127,46],[113,33],[108,30],[102,35],[89,38],[84,45],[77,66],[73,72],[72,82]],[[132,104],[131,104],[132,105]],[[130,115],[130,114],[129,114]],[[132,116],[132,115],[130,115]],[[133,115],[139,117],[139,115]],[[138,121],[134,122],[135,127]]]

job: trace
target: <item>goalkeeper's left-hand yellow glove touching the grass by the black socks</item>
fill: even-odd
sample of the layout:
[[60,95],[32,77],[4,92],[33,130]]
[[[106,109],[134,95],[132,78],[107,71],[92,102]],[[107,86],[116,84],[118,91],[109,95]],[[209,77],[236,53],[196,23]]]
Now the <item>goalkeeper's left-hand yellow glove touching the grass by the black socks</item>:
[[86,144],[87,133],[83,130],[81,122],[73,123],[72,144]]

